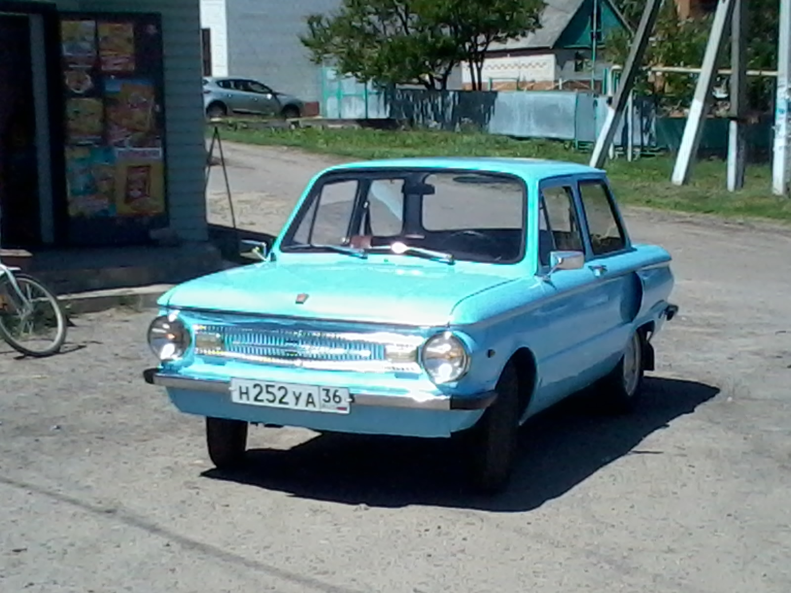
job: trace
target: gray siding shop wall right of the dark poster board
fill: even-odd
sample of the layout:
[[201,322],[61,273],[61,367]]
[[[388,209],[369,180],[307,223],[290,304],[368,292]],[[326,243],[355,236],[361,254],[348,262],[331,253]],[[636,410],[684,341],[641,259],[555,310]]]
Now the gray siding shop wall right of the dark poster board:
[[161,13],[170,225],[184,240],[207,240],[199,0],[81,0],[78,8]]

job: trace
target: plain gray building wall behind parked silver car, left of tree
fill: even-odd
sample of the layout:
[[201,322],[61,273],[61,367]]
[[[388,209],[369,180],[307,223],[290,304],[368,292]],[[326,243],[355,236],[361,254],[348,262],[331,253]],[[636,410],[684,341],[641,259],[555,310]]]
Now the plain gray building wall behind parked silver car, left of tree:
[[321,72],[299,36],[305,17],[329,13],[340,0],[227,0],[230,76],[257,78],[302,100],[321,100]]

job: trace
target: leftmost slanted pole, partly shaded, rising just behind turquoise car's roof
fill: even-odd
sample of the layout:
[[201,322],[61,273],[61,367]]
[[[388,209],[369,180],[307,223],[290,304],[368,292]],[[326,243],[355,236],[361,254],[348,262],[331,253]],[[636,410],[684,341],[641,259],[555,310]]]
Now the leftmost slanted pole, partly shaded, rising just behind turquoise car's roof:
[[629,99],[634,87],[634,79],[637,77],[638,70],[642,64],[651,32],[653,32],[654,25],[657,24],[657,16],[661,6],[662,0],[648,0],[648,2],[645,2],[645,9],[643,9],[642,17],[640,17],[638,31],[634,35],[634,41],[629,50],[629,57],[626,59],[626,66],[623,67],[623,76],[621,76],[618,89],[615,91],[612,104],[607,110],[607,119],[604,120],[604,126],[598,138],[596,138],[596,145],[593,147],[593,154],[590,160],[592,167],[601,168],[604,166],[607,150],[610,148],[613,138],[615,138],[615,130],[618,128],[623,110],[626,108],[626,101]]

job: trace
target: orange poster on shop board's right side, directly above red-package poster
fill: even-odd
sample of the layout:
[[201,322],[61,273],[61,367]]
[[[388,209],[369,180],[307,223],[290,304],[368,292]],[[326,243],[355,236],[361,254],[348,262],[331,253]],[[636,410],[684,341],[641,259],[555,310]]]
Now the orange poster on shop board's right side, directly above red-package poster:
[[110,80],[105,84],[104,92],[111,145],[119,148],[161,146],[157,93],[153,82]]

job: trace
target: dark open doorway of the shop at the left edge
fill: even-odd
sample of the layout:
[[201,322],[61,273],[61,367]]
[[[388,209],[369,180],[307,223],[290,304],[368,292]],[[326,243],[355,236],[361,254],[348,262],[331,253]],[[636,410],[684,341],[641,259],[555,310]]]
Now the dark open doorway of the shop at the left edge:
[[40,244],[30,22],[0,14],[0,246]]

